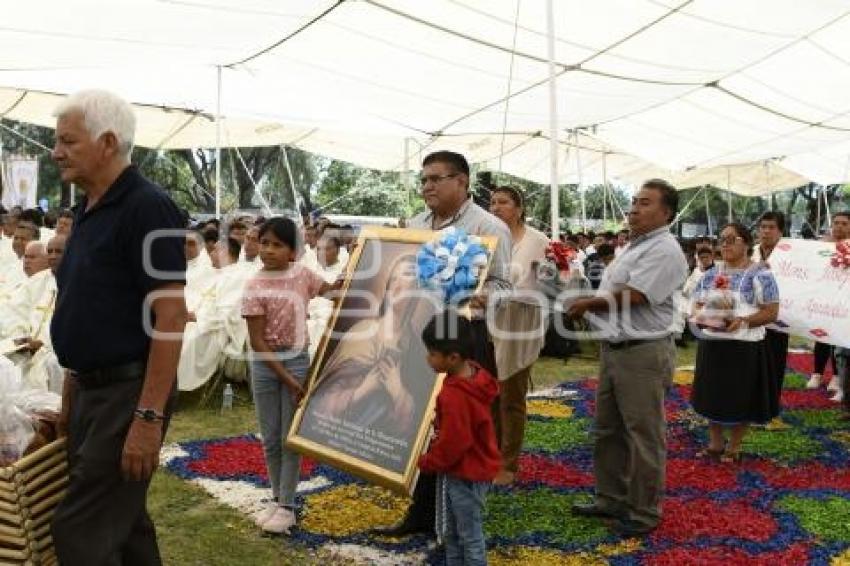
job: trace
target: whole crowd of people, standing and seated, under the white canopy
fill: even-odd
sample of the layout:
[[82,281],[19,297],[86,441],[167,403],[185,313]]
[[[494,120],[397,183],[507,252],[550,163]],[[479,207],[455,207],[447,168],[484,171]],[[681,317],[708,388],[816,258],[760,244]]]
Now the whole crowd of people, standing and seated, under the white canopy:
[[[329,296],[356,245],[353,230],[282,217],[191,223],[130,164],[135,119],[126,102],[87,91],[69,97],[56,117],[53,157],[84,198],[55,216],[4,211],[0,339],[30,387],[62,394],[71,479],[53,524],[60,561],[160,563],[145,501],[177,389],[196,389],[246,354],[241,371],[251,381],[272,491],[256,522],[289,533],[300,466],[283,440],[333,311]],[[526,395],[549,316],[533,298],[549,238],[525,222],[524,195],[495,187],[485,210],[470,198],[469,179],[469,164],[454,152],[422,164],[427,209],[407,226],[454,226],[498,243],[482,290],[469,300],[471,316],[447,308],[410,337],[446,374],[436,438],[418,462],[404,518],[375,528],[384,536],[436,534],[449,564],[486,562],[486,493],[519,471]],[[661,520],[664,398],[677,340],[698,342],[691,401],[709,423],[700,457],[734,465],[749,426],[784,426],[788,336],[769,325],[780,301],[770,257],[785,219],[765,213],[757,237],[729,223],[716,241],[691,246],[670,231],[677,209],[676,189],[652,179],[635,194],[627,229],[564,239],[576,252],[574,275],[593,289],[564,304],[565,316],[604,333],[596,488],[572,511],[607,517],[622,536],[646,535]],[[158,230],[182,236],[145,244]],[[850,213],[838,212],[830,239],[848,238]],[[496,328],[513,335],[488,327],[488,309]],[[182,340],[165,338],[173,335]],[[809,382],[819,387],[827,361],[838,361],[844,382],[833,380],[834,399],[845,409],[847,355],[818,345]]]

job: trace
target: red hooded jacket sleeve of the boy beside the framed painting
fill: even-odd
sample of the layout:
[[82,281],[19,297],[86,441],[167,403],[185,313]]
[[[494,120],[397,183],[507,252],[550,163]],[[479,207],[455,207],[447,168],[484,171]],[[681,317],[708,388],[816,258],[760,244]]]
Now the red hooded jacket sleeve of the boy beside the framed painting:
[[456,394],[443,397],[437,439],[419,458],[419,468],[424,472],[451,470],[472,447],[472,426],[463,397]]

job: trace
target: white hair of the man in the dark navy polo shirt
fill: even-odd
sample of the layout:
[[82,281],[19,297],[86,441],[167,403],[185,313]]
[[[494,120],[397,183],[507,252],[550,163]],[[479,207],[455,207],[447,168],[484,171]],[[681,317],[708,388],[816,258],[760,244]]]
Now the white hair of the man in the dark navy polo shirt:
[[130,156],[136,137],[136,115],[129,102],[106,90],[81,90],[63,100],[53,116],[61,118],[73,112],[83,115],[92,139],[112,132],[121,154]]

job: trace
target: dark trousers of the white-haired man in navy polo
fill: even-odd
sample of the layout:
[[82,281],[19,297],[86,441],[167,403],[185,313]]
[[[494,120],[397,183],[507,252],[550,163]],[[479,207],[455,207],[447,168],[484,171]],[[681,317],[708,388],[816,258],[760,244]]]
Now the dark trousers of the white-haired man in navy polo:
[[[143,370],[142,370],[143,371]],[[68,493],[53,516],[63,566],[162,564],[146,500],[150,480],[125,481],[121,453],[142,390],[142,375],[110,385],[78,385],[68,427]],[[166,408],[171,414],[175,395]],[[168,421],[163,423],[163,436]]]

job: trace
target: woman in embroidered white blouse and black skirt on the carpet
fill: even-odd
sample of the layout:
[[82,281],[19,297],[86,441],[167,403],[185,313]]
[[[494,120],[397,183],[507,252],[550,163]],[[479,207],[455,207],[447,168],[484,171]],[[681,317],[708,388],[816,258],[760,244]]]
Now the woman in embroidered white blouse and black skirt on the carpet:
[[697,455],[720,462],[740,462],[749,425],[779,412],[764,343],[765,325],[779,312],[779,288],[767,266],[750,259],[752,250],[746,227],[724,226],[723,265],[706,272],[693,297],[699,344],[691,403],[709,421],[708,446]]

